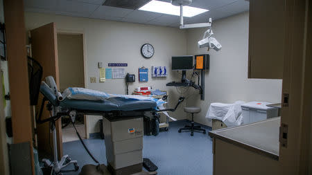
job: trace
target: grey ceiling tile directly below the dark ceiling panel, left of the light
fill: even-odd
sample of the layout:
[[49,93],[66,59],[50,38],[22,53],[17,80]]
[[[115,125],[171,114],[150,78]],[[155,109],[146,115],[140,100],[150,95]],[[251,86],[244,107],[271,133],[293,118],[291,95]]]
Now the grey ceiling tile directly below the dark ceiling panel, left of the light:
[[114,8],[109,6],[99,6],[90,17],[103,19],[105,17],[120,17],[123,18],[126,15],[130,14],[133,10],[125,8]]

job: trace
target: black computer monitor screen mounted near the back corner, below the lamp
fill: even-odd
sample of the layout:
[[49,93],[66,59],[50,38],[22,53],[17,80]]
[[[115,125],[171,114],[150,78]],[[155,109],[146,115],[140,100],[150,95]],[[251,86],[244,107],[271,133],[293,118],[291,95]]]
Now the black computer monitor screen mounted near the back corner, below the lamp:
[[171,68],[174,71],[192,70],[193,55],[172,57]]

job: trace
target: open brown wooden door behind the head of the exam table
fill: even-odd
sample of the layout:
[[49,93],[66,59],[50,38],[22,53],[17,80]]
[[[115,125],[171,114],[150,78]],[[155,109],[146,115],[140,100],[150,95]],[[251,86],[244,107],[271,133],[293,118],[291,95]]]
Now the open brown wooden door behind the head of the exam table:
[[[57,46],[57,34],[55,24],[46,24],[39,28],[31,30],[31,47],[33,58],[36,59],[43,68],[43,76],[45,77],[51,75],[55,78],[55,82],[59,85],[59,75],[58,75],[58,46]],[[42,100],[42,95],[40,95],[40,101]],[[42,119],[49,118],[49,111],[45,109],[42,114]],[[62,156],[62,125],[61,121],[56,122],[56,133],[58,136],[58,158]],[[49,123],[44,123],[42,125],[37,125],[37,139],[38,139],[38,149],[44,150],[51,153],[52,145],[52,135],[49,136]],[[51,140],[49,140],[49,138]],[[51,143],[51,147],[49,145]]]

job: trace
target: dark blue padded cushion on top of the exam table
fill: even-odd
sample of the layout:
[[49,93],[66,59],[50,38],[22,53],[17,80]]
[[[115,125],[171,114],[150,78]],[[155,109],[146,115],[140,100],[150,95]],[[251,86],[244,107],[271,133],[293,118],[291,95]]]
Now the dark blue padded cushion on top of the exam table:
[[125,98],[109,98],[100,101],[65,99],[60,102],[60,107],[91,111],[135,111],[154,109],[157,107],[157,104],[156,102],[148,100],[132,100]]

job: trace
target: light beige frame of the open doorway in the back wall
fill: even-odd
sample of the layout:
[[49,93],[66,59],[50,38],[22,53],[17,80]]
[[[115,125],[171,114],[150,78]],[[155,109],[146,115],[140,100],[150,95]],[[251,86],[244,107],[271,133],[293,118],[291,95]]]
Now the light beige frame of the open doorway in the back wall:
[[[84,30],[64,30],[64,29],[56,29],[57,34],[64,35],[83,35],[83,75],[84,75],[84,84],[85,88],[88,88],[88,79],[87,79],[87,49],[86,49],[86,39],[85,39],[85,31]],[[85,120],[85,138],[89,138],[89,120],[87,115],[84,115]]]

